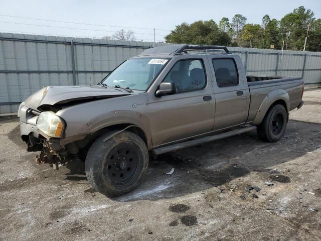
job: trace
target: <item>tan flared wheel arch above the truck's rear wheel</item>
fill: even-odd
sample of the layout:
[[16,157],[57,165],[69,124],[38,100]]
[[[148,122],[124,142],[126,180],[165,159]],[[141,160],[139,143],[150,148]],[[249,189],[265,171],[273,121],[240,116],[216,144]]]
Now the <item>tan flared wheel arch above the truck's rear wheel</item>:
[[283,100],[286,104],[286,111],[289,111],[289,95],[284,89],[275,89],[269,92],[263,99],[259,109],[257,110],[256,116],[252,125],[260,125],[264,119],[264,116],[270,106],[277,100]]

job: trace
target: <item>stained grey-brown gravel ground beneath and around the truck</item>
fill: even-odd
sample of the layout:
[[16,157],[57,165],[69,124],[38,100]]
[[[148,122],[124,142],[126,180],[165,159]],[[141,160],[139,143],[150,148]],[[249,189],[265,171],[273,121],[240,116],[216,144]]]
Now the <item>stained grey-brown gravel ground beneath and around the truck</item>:
[[0,239],[321,240],[320,99],[305,90],[279,142],[250,132],[150,159],[142,184],[114,199],[76,165],[36,164],[18,119],[0,116]]

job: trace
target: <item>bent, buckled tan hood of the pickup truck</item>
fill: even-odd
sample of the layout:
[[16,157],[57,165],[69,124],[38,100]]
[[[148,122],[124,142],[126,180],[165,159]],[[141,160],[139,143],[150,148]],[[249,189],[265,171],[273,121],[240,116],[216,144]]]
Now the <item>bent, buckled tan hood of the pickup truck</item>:
[[111,98],[143,91],[125,92],[122,89],[105,88],[95,86],[49,86],[44,87],[25,100],[25,105],[32,109],[44,110],[44,106],[60,107],[64,105],[78,104],[102,98]]

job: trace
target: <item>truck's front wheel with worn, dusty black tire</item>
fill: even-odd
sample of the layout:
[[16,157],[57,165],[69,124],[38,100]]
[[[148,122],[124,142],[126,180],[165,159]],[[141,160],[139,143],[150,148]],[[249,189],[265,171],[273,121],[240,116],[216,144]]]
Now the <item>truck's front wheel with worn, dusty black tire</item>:
[[115,197],[132,191],[140,183],[148,167],[148,151],[134,133],[124,131],[103,142],[109,135],[102,135],[92,144],[85,171],[98,192]]

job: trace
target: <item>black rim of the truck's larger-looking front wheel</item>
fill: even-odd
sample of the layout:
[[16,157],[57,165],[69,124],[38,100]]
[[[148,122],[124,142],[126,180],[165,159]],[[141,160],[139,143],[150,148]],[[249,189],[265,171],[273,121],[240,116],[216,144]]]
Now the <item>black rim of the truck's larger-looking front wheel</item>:
[[113,183],[126,183],[137,170],[138,155],[126,145],[113,148],[106,159],[104,174]]

